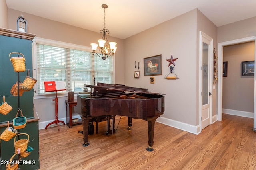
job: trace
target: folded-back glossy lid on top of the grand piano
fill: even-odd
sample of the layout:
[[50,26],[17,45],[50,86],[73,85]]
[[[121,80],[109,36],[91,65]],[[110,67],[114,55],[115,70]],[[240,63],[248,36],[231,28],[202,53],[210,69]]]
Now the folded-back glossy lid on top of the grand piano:
[[152,93],[148,92],[146,88],[137,88],[130,87],[120,84],[106,84],[106,83],[97,83],[97,85],[84,85],[85,87],[94,88],[93,95],[100,96],[106,94],[120,94],[120,93],[128,93],[128,92],[136,92],[136,93],[146,93],[146,94],[158,94],[165,95],[160,93]]

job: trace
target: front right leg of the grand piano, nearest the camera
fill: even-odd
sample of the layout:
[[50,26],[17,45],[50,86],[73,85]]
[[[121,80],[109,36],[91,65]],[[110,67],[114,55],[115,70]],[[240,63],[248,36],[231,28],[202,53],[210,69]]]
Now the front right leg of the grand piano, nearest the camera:
[[147,148],[147,150],[149,152],[152,152],[154,150],[152,148],[152,146],[154,145],[154,129],[155,129],[155,121],[158,117],[159,116],[143,119],[143,120],[148,121],[148,148]]

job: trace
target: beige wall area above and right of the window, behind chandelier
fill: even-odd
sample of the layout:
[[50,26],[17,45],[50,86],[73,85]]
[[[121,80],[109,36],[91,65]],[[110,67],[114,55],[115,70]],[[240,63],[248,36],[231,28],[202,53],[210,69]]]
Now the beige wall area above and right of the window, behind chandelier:
[[[90,43],[97,42],[98,39],[102,38],[102,36],[100,36],[100,32],[97,33],[89,31],[8,8],[10,29],[17,29],[17,18],[20,16],[20,14],[23,14],[24,18],[27,20],[28,32],[36,34],[36,37],[84,45],[87,47],[90,47]],[[102,28],[99,28],[99,31],[100,29]],[[109,37],[108,39],[117,43],[118,50],[116,50],[115,67],[118,72],[116,72],[115,80],[116,83],[123,84],[123,40],[114,37]]]

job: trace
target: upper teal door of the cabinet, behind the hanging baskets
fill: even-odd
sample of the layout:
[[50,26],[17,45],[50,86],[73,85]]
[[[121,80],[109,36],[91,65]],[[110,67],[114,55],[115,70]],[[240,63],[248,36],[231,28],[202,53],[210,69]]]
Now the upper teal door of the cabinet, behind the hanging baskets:
[[[27,76],[26,71],[20,72],[19,77],[18,73],[14,72],[12,62],[10,61],[9,58],[9,54],[11,52],[22,53],[26,59],[26,69],[32,70],[32,41],[27,39],[20,39],[0,35],[0,95],[5,95],[5,102],[7,102],[13,108],[13,110],[7,115],[0,114],[0,123],[4,123],[8,120],[10,121],[14,119],[18,111],[18,96],[9,97],[9,95],[12,95],[10,93],[10,90],[13,84],[15,84],[18,81],[18,78],[21,82],[23,82]],[[33,76],[32,71],[30,72],[30,76]],[[29,92],[24,92],[22,96],[20,96],[19,108],[22,110],[23,115],[27,117],[27,119],[33,118],[34,116],[33,96],[33,89]],[[0,97],[0,103],[2,102],[3,98]]]

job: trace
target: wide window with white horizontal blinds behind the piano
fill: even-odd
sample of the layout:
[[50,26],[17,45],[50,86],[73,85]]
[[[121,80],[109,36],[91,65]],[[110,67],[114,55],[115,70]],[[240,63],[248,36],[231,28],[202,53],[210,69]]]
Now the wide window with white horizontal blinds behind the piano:
[[37,94],[45,93],[44,81],[65,81],[67,92],[82,92],[84,84],[114,83],[113,57],[103,61],[88,47],[38,38],[35,46]]

